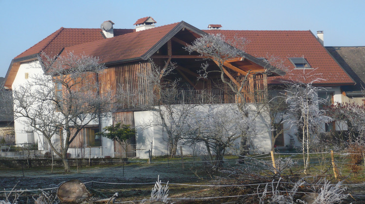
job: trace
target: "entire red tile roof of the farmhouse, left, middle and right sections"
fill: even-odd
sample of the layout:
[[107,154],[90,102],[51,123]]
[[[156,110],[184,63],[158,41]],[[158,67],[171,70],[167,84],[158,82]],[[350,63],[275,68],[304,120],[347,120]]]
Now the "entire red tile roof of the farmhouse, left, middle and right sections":
[[[141,18],[146,20],[148,17]],[[141,20],[140,19],[140,20]],[[137,21],[138,22],[138,21]],[[99,57],[102,63],[116,63],[131,59],[141,59],[158,42],[164,38],[178,23],[160,26],[145,31],[134,29],[114,29],[112,38],[104,39],[100,29],[60,28],[30,49],[19,54],[15,60],[45,51],[48,55],[64,54],[73,51],[75,54],[87,54]],[[197,32],[200,30],[197,29]],[[302,57],[308,61],[314,74],[322,74],[320,84],[343,85],[353,84],[352,79],[336,63],[327,50],[317,41],[310,31],[230,31],[205,30],[210,34],[224,34],[227,39],[245,37],[250,41],[245,51],[254,57],[275,56],[284,60],[284,66],[290,68],[285,76],[270,77],[270,84],[281,84],[289,77],[299,76],[303,69],[294,69],[288,57]],[[269,59],[270,60],[270,59]],[[8,74],[7,74],[8,75]],[[310,79],[309,79],[310,80]]]

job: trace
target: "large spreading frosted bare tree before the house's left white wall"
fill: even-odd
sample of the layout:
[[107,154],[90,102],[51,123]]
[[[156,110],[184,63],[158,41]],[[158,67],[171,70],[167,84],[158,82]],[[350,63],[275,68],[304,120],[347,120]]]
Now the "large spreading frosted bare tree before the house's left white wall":
[[[43,53],[38,61],[44,74],[30,76],[13,90],[15,119],[42,135],[69,172],[70,144],[86,125],[99,123],[112,111],[112,98],[100,92],[98,81],[106,67],[97,58],[72,52],[57,58]],[[55,135],[60,137],[59,149],[52,140]]]

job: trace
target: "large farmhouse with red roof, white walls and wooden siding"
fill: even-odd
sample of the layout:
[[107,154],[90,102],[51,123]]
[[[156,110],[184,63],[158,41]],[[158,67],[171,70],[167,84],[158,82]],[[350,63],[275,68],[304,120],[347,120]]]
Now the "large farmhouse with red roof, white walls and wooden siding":
[[[156,96],[154,87],[148,84],[146,75],[153,67],[151,60],[159,67],[174,64],[174,73],[167,75],[165,80],[179,79],[179,92],[175,96],[179,102],[221,106],[237,102],[237,98],[221,82],[219,75],[209,72],[205,78],[199,77],[202,62],[208,63],[210,70],[218,70],[216,61],[206,61],[198,53],[190,54],[183,49],[205,34],[222,34],[226,39],[232,40],[235,37],[244,37],[249,41],[244,48],[239,48],[244,51],[242,57],[227,60],[223,64],[226,78],[249,76],[249,84],[243,88],[245,101],[248,103],[263,100],[268,85],[277,86],[289,80],[302,80],[298,76],[306,72],[321,74],[324,80],[314,85],[326,88],[327,91],[318,95],[329,103],[342,102],[344,95],[341,86],[354,84],[351,77],[310,31],[228,31],[215,24],[210,24],[209,30],[200,30],[184,21],[159,27],[155,27],[155,23],[152,17],[145,17],[136,21],[135,29],[115,29],[112,21],[105,21],[101,29],[60,28],[12,60],[4,86],[16,89],[32,76],[43,74],[44,70],[37,66],[41,53],[65,56],[72,52],[74,55],[99,58],[107,67],[97,76],[101,84],[100,91],[111,91],[121,97],[115,102],[116,111],[110,113],[112,117],[99,119],[85,126],[73,140],[69,153],[72,157],[83,151],[84,155],[92,157],[146,158],[148,150],[152,150],[154,155],[167,153],[168,147],[163,141],[164,131],[161,126],[138,129],[136,137],[129,141],[127,147],[96,133],[116,122],[141,127],[146,121],[156,120],[153,110],[147,107],[158,105],[153,98],[161,99],[163,96]],[[320,36],[321,34],[323,33],[319,33]],[[272,59],[279,59],[281,62],[273,62]],[[285,71],[278,69],[281,67]],[[265,72],[268,70],[269,76]],[[252,71],[256,74],[249,75]],[[285,75],[285,72],[288,74]],[[306,80],[310,82],[311,78]],[[272,133],[265,126],[267,120],[262,115],[256,121],[256,125],[264,131],[252,141],[250,148],[258,152],[268,152],[271,148]],[[282,129],[286,130],[287,127],[284,126],[285,124]],[[21,119],[15,119],[15,133],[17,143],[38,142],[38,147],[43,147],[45,152],[49,151],[43,136],[26,127]],[[284,131],[277,146],[290,145],[292,134],[292,130]],[[59,138],[57,140],[55,137],[54,142],[60,142]],[[190,152],[187,146],[183,150],[185,153]]]

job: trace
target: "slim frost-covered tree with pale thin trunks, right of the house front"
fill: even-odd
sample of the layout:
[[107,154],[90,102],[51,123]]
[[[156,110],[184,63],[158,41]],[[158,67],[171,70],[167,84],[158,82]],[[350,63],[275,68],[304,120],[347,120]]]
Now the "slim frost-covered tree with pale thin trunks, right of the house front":
[[299,141],[302,143],[302,153],[304,161],[304,173],[309,172],[310,168],[310,146],[316,134],[319,133],[321,126],[325,122],[331,121],[326,116],[326,112],[319,108],[319,105],[325,103],[324,99],[318,98],[318,91],[324,90],[322,87],[313,86],[313,83],[321,81],[320,78],[314,78],[309,83],[308,78],[315,76],[303,75],[303,79],[297,82],[288,82],[286,89],[286,99],[288,103],[288,112],[283,116],[284,122],[291,127],[298,128]]

